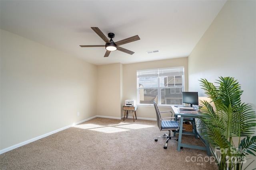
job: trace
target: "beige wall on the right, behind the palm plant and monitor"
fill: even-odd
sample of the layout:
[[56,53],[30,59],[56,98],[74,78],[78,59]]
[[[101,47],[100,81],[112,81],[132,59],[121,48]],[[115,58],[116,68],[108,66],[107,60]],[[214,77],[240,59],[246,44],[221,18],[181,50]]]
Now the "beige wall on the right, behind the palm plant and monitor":
[[[241,100],[256,108],[256,1],[227,1],[188,57],[190,91],[204,96],[198,80],[219,76],[238,80]],[[255,157],[249,156],[244,167]],[[247,169],[256,167],[254,161]]]

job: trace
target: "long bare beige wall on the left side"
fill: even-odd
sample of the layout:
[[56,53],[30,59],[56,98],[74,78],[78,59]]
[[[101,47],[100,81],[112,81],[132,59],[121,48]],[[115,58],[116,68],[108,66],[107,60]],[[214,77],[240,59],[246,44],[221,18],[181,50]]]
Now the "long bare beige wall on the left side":
[[96,115],[95,65],[0,34],[1,150]]

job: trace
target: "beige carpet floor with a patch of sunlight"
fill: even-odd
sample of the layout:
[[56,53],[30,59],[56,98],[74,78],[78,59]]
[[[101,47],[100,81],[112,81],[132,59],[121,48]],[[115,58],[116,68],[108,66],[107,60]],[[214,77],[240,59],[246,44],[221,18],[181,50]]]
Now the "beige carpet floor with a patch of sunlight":
[[[156,121],[94,118],[0,155],[1,170],[217,170],[205,150],[154,139]],[[193,135],[182,143],[204,146]],[[204,158],[203,162],[197,158]]]

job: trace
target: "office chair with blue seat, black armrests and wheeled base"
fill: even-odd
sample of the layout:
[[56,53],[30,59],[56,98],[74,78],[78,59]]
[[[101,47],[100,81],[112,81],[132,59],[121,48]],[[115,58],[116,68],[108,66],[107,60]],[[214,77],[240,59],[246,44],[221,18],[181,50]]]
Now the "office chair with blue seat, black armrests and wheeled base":
[[[172,117],[172,111],[161,111],[160,112],[155,101],[153,101],[153,104],[156,109],[156,121],[157,121],[157,125],[158,125],[160,131],[169,131],[169,135],[165,133],[162,136],[158,136],[161,138],[162,137],[167,138],[165,145],[164,145],[164,149],[167,149],[167,143],[170,139],[172,139],[174,141],[178,141],[178,138],[177,139],[174,138],[176,136],[171,136],[171,131],[174,132],[174,131],[179,130],[180,121],[177,121],[178,117]],[[167,112],[171,113],[171,117],[161,118],[160,113],[167,113]],[[155,141],[158,141],[158,137],[156,137]]]

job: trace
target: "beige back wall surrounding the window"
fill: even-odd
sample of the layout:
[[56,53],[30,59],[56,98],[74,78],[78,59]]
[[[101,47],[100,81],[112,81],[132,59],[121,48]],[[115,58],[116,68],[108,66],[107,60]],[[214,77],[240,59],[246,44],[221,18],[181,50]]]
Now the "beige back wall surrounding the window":
[[[125,100],[136,100],[137,98],[137,70],[153,69],[153,68],[166,68],[184,66],[185,71],[185,90],[188,89],[188,58],[177,58],[168,60],[158,60],[142,63],[124,64],[123,77],[124,77],[124,97],[122,104]],[[137,100],[136,100],[137,102]],[[160,111],[170,110],[170,107],[160,107]],[[140,119],[156,119],[156,111],[154,106],[138,106],[136,111],[137,117]]]

